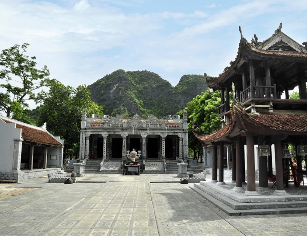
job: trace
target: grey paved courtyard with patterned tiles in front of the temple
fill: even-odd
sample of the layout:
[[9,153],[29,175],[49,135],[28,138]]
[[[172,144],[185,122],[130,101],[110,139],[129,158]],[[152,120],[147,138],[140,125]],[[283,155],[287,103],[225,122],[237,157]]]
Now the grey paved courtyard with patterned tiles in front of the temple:
[[[32,179],[0,200],[0,235],[306,235],[307,214],[228,216],[176,175]],[[83,181],[83,182],[82,182]],[[1,195],[1,193],[0,193]]]

